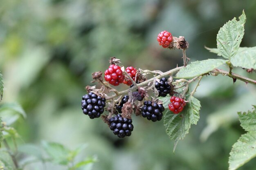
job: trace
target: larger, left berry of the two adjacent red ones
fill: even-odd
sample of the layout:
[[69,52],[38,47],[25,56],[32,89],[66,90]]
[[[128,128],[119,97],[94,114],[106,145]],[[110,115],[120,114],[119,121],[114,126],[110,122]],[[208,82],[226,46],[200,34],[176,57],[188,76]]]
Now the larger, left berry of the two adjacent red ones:
[[118,86],[124,81],[123,71],[121,71],[120,66],[112,64],[105,71],[105,80],[114,86]]

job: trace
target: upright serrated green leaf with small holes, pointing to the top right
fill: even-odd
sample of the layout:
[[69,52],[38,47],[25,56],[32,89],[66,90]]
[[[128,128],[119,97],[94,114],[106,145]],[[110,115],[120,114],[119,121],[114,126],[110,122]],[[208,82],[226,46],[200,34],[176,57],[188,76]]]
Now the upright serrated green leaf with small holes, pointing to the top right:
[[244,36],[244,25],[246,21],[244,11],[239,19],[239,21],[236,21],[236,18],[228,21],[220,28],[217,34],[217,48],[222,57],[226,59],[230,59],[237,53]]

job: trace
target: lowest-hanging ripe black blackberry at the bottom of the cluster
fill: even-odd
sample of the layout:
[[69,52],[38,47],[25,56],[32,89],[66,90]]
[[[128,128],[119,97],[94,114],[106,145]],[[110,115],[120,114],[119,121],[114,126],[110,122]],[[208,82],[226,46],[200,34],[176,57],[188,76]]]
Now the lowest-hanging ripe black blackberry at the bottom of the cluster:
[[108,119],[110,130],[120,138],[130,136],[132,134],[132,119],[123,118],[120,114]]

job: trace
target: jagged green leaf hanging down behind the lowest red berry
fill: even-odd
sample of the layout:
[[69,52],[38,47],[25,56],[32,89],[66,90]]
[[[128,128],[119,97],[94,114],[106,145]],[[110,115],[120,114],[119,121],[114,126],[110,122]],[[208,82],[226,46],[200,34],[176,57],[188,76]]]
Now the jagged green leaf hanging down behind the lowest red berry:
[[[169,97],[161,98],[165,108],[168,108]],[[190,96],[190,92],[186,94],[186,100],[189,102],[184,107],[184,110],[179,114],[173,114],[168,110],[164,115],[164,126],[166,133],[171,140],[174,141],[174,148],[177,146],[179,140],[184,139],[185,135],[189,133],[191,124],[197,124],[199,119],[200,102],[195,97]]]

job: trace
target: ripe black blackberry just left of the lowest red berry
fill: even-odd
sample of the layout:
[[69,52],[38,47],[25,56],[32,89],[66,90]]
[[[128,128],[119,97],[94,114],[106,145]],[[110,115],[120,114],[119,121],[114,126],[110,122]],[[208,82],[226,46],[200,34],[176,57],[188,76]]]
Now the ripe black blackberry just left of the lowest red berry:
[[151,121],[159,121],[163,117],[164,106],[151,101],[144,101],[144,106],[141,108],[142,117],[146,117]]

